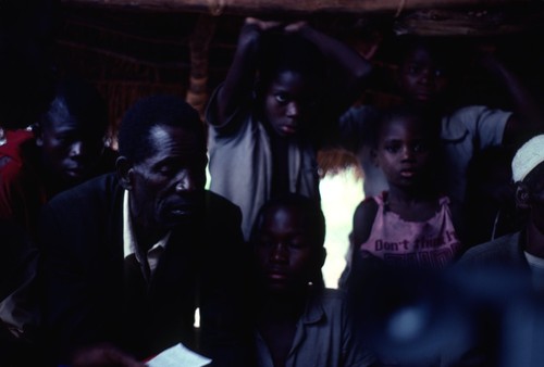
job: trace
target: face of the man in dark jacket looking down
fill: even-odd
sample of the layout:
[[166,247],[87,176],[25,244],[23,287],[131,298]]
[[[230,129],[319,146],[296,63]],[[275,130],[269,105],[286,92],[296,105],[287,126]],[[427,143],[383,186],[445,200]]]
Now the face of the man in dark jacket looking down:
[[195,132],[158,125],[151,154],[129,169],[131,213],[145,228],[169,229],[203,206],[206,147]]

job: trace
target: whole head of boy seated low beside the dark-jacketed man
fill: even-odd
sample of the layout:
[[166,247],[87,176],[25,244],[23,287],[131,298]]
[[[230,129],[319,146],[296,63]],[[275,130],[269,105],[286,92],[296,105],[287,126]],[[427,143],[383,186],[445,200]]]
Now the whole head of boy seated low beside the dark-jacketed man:
[[272,292],[297,293],[320,286],[326,251],[325,219],[316,201],[288,194],[264,204],[251,231],[255,265]]

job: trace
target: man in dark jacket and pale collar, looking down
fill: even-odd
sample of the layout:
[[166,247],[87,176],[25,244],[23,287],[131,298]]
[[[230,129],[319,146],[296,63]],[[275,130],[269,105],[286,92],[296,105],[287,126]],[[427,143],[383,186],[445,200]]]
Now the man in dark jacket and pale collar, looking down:
[[41,217],[54,362],[143,360],[181,342],[214,366],[248,364],[240,212],[205,190],[197,112],[175,97],[137,102],[119,153],[116,175],[65,191]]

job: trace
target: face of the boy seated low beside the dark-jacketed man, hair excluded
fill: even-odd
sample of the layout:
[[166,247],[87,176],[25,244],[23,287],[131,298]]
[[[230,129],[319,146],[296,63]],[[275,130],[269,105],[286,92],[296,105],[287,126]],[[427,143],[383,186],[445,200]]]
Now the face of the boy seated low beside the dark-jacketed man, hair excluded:
[[301,291],[319,271],[324,249],[313,243],[310,231],[297,207],[277,206],[264,213],[254,252],[263,286],[270,291]]

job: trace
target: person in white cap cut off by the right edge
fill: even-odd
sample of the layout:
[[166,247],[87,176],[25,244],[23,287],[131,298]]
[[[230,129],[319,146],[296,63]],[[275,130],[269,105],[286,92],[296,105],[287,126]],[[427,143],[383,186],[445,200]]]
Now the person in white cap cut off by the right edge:
[[536,290],[544,290],[544,135],[516,152],[511,169],[516,204],[527,215],[523,229],[470,249],[460,263],[521,268]]

